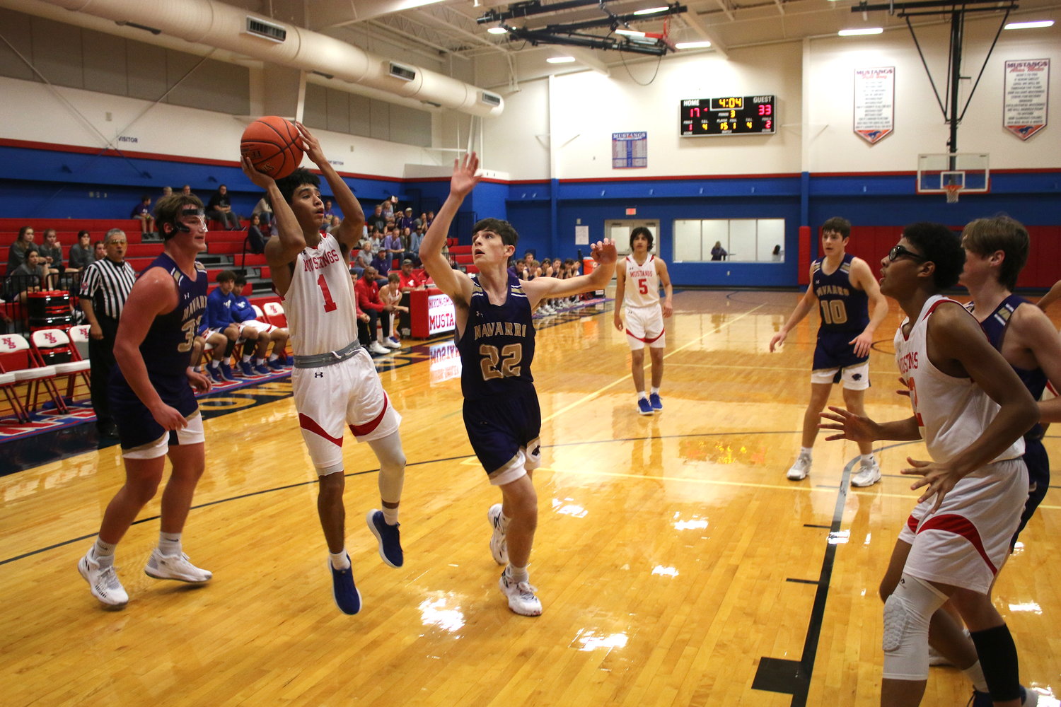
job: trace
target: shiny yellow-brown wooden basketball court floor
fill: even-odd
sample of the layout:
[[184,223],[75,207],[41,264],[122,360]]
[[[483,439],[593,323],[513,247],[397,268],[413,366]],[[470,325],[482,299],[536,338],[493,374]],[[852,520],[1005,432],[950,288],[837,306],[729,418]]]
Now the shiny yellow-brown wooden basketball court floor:
[[[286,382],[267,384],[261,405],[204,402],[239,408],[207,421],[207,473],[185,532],[192,560],[214,572],[207,586],[143,575],[156,499],[118,549],[129,604],[108,612],[90,596],[75,563],[121,484],[118,447],[0,478],[0,702],[876,705],[876,587],[917,495],[899,470],[924,448],[883,443],[883,481],[855,490],[856,446],[822,436],[810,478],[785,479],[816,317],[780,353],[768,343],[798,297],[680,291],[665,409],[653,417],[634,409],[610,302],[540,328],[536,619],[511,614],[498,590],[486,522],[498,492],[471,456],[445,346],[414,347],[411,365],[381,371],[408,458],[400,569],[382,563],[364,523],[379,503],[375,457],[347,438],[348,549],[364,598],[355,617],[331,598]],[[894,393],[898,321],[892,302],[870,359],[877,419],[909,414]],[[1056,434],[1046,446],[1061,458]],[[1057,488],[994,595],[1022,682],[1044,706],[1061,694]],[[924,705],[968,697],[960,673],[932,669]]]

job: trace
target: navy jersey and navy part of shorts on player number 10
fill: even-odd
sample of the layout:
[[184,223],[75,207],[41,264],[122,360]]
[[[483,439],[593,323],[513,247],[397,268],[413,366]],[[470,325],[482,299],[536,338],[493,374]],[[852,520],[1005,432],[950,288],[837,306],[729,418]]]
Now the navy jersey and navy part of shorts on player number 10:
[[825,275],[824,261],[811,265],[811,286],[818,298],[818,344],[814,352],[814,370],[854,366],[869,358],[856,356],[849,343],[869,324],[869,297],[866,290],[851,283],[851,262],[854,255],[846,253],[840,266]]

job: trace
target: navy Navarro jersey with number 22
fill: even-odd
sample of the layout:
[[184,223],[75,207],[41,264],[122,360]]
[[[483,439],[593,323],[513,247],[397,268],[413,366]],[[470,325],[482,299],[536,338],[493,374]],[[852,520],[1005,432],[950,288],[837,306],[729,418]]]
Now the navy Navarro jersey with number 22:
[[508,297],[491,304],[479,276],[471,277],[468,321],[457,339],[460,391],[465,400],[534,390],[534,323],[530,301],[519,279],[508,273]]

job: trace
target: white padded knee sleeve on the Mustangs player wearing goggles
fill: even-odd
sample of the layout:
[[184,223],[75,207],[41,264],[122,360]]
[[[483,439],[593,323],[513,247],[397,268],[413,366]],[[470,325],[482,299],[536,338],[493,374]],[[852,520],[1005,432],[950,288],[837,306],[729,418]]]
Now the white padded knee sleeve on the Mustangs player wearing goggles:
[[946,602],[946,595],[923,580],[904,573],[884,602],[884,676],[899,681],[928,679],[928,622]]

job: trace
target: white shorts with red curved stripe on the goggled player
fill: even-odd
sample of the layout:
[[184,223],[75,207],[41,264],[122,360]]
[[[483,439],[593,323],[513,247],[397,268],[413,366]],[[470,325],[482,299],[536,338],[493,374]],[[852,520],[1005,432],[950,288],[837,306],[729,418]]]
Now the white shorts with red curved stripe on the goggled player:
[[918,503],[899,533],[911,546],[903,571],[987,594],[1009,556],[1027,497],[1027,466],[1007,459],[958,481],[936,513],[928,515],[935,496]]

